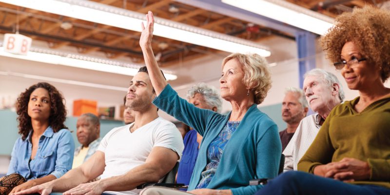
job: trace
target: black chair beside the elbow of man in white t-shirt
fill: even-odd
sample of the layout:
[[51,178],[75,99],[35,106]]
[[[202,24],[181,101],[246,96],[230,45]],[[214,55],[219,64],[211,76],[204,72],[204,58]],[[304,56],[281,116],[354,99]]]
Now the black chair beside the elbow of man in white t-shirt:
[[164,186],[168,188],[186,188],[184,183],[175,183],[177,169],[179,169],[179,162],[176,162],[175,167],[167,173],[158,183],[144,183],[137,186],[137,189],[144,189],[149,186]]

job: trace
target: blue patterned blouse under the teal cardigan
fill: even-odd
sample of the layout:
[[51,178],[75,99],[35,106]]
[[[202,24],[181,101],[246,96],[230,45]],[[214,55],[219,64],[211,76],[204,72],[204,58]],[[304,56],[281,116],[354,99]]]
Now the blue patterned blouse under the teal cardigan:
[[215,175],[223,150],[239,124],[240,121],[228,121],[221,133],[219,133],[219,135],[210,143],[207,149],[206,170],[202,172],[201,179],[196,186],[196,189],[207,188],[209,185],[211,179]]

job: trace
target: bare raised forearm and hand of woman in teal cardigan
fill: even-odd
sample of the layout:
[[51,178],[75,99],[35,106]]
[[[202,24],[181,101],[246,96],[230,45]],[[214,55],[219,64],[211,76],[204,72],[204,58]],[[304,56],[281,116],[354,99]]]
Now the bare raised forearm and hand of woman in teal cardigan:
[[151,11],[146,14],[146,26],[141,23],[141,37],[139,39],[139,45],[141,46],[143,58],[148,69],[150,80],[152,81],[153,88],[158,96],[164,87],[168,84],[162,75],[160,68],[158,67],[155,55],[152,49],[153,27],[155,19]]

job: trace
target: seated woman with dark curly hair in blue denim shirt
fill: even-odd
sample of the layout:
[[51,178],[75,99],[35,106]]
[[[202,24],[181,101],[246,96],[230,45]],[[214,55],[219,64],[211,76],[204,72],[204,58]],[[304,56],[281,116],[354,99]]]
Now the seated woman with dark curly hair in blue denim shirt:
[[64,126],[64,98],[51,84],[39,82],[17,101],[19,134],[0,194],[19,192],[51,181],[72,168],[75,143]]

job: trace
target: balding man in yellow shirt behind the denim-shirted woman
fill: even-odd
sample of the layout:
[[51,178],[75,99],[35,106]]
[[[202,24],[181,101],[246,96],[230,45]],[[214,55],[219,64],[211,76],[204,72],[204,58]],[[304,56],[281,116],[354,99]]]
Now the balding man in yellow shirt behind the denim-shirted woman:
[[75,150],[73,169],[80,166],[95,154],[101,141],[100,121],[94,114],[86,113],[78,117],[76,128],[77,139],[81,146]]

